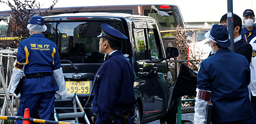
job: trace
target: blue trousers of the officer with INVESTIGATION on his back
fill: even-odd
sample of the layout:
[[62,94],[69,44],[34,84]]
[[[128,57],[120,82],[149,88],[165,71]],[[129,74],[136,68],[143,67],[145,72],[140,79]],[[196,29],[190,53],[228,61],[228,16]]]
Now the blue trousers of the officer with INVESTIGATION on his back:
[[[22,95],[17,116],[24,116],[24,111],[29,108],[30,117],[32,118],[36,106],[40,119],[51,120],[51,113],[54,112],[55,92],[46,92],[38,94]],[[15,124],[22,124],[23,121],[16,121]]]

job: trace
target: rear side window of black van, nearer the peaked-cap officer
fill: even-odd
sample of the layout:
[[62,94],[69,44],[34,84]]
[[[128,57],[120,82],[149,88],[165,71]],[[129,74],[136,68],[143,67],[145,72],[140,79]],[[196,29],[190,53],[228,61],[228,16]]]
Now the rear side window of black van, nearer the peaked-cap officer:
[[145,60],[149,59],[146,56],[147,51],[147,43],[146,43],[146,37],[145,37],[145,29],[135,29],[135,40],[136,40],[136,47],[137,47],[137,54],[139,60]]

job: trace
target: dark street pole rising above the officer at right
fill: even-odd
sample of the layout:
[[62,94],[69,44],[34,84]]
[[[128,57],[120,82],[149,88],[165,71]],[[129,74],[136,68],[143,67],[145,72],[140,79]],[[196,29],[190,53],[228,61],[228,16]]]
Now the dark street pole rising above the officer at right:
[[227,0],[227,28],[231,45],[228,47],[234,51],[234,25],[233,25],[233,0]]

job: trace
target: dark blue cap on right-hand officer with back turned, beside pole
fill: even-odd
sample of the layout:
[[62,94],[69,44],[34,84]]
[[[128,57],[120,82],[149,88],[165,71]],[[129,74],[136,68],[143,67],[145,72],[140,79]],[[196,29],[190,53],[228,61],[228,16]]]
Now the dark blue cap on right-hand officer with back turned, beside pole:
[[227,27],[220,24],[212,25],[210,31],[210,38],[217,42],[221,47],[227,48],[230,46],[230,40],[228,38]]

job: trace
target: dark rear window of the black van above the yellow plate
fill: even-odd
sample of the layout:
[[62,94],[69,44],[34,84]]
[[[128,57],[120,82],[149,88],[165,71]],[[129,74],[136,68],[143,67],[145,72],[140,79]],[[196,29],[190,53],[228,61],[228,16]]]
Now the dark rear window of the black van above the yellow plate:
[[[101,63],[103,55],[99,53],[97,37],[104,22],[46,22],[44,35],[54,41],[61,60],[72,63]],[[105,22],[123,32],[120,22]]]

